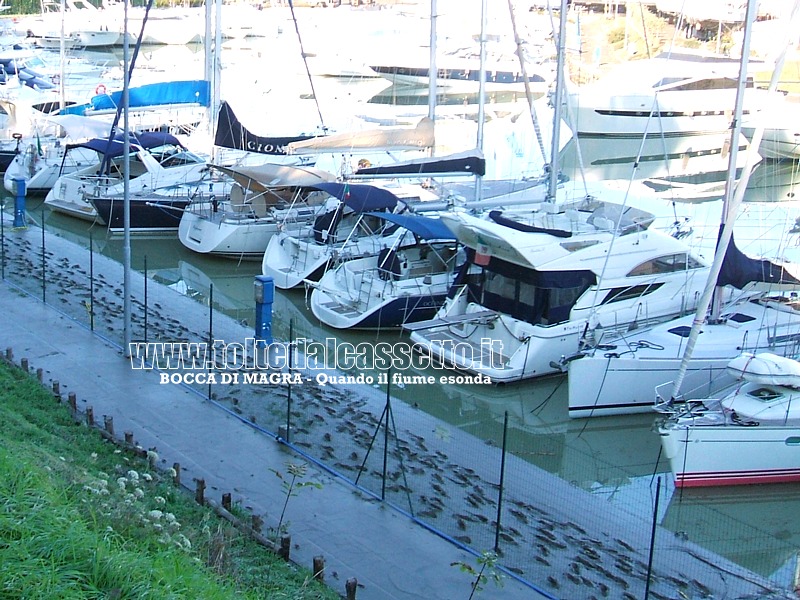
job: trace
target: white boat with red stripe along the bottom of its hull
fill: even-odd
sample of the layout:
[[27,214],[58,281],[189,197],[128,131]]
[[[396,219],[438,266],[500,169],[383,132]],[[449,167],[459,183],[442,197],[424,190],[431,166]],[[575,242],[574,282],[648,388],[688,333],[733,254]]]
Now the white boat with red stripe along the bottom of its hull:
[[769,352],[729,363],[742,379],[718,398],[657,409],[676,487],[800,481],[800,364]]

